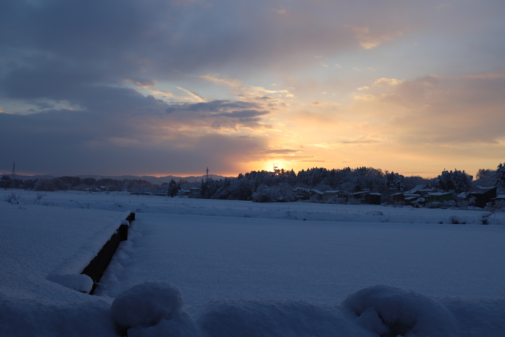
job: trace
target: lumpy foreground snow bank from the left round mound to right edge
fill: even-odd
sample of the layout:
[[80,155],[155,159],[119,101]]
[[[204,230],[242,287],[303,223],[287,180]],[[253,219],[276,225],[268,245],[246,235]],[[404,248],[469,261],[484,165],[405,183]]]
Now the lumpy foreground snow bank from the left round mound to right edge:
[[[215,300],[183,310],[182,293],[168,282],[144,282],[120,294],[112,317],[132,336],[498,336],[503,299],[444,298],[445,306],[412,290],[375,285],[338,305],[310,301]],[[458,302],[458,305],[453,305]],[[469,307],[493,312],[468,324]],[[485,326],[485,330],[479,328]]]

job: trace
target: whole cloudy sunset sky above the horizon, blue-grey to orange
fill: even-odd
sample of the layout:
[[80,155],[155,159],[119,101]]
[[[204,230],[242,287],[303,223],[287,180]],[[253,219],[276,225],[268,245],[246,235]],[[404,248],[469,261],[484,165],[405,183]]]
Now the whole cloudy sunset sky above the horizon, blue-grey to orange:
[[505,161],[502,0],[3,0],[0,172]]

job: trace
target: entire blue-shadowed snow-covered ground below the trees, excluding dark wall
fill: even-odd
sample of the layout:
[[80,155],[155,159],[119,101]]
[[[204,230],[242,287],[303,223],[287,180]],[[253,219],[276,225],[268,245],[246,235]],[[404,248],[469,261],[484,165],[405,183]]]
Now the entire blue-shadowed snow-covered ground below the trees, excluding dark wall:
[[[15,192],[0,335],[505,335],[503,213]],[[127,210],[96,296],[65,287]]]

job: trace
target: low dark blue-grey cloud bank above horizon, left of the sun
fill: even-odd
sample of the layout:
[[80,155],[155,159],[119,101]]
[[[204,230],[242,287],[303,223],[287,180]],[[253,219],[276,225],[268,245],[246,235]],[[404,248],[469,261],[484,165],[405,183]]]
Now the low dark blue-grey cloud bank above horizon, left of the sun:
[[257,159],[266,140],[222,134],[164,133],[156,116],[121,119],[84,111],[0,113],[0,171],[67,174],[157,174],[210,167],[234,174]]

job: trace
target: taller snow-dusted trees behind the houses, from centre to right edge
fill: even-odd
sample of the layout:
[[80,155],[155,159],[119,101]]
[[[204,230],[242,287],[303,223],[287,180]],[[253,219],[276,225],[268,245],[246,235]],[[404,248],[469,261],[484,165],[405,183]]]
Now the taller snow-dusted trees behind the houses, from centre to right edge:
[[[322,192],[340,190],[347,194],[370,190],[371,192],[387,192],[390,189],[406,191],[418,183],[427,183],[440,191],[466,192],[470,188],[482,185],[497,185],[505,187],[505,163],[497,170],[480,169],[473,176],[464,170],[443,170],[435,178],[421,176],[403,176],[399,173],[382,171],[373,167],[357,167],[351,169],[328,170],[323,167],[302,169],[295,173],[283,169],[270,171],[251,171],[239,174],[236,179],[202,180],[200,191],[192,195],[194,198],[252,200],[262,201],[294,201],[294,187],[316,189]],[[501,181],[501,182],[500,182]]]

